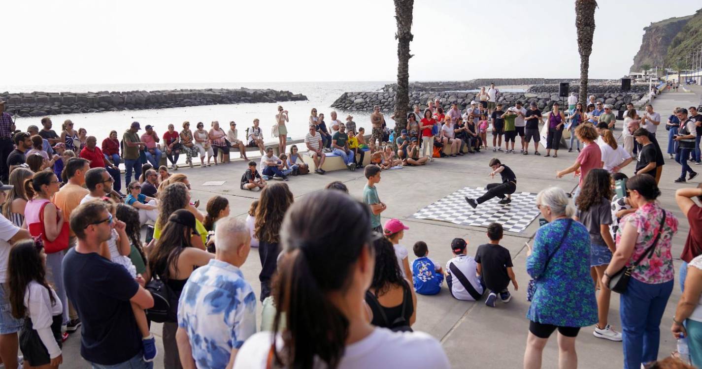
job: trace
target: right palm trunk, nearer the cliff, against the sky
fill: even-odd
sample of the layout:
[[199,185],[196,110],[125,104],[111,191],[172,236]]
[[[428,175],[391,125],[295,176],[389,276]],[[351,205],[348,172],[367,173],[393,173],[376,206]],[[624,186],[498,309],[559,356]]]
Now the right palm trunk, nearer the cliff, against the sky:
[[588,69],[592,53],[592,34],[595,33],[595,0],[575,0],[575,27],[578,32],[580,53],[580,102],[588,101]]

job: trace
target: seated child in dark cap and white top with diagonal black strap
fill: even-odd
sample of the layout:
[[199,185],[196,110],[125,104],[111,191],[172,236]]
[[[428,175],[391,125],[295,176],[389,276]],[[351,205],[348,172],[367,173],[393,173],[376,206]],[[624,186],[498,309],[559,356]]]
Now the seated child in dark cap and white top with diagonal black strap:
[[480,300],[485,286],[477,277],[477,263],[468,256],[468,242],[464,239],[453,239],[451,251],[453,259],[446,262],[446,286],[449,286],[451,296],[458,300]]

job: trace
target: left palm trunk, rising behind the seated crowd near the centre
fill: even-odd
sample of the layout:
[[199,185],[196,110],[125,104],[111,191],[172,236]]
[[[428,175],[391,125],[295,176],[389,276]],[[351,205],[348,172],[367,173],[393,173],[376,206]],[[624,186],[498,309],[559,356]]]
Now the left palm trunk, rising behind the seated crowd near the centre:
[[[409,110],[409,42],[412,41],[412,10],[414,0],[395,0],[397,22],[397,92],[395,93],[395,137],[407,126]],[[395,142],[392,142],[395,145]]]

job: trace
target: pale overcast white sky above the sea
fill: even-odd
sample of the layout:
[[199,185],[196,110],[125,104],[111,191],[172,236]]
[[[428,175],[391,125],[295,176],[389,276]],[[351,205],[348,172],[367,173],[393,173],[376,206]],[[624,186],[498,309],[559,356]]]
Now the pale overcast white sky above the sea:
[[[599,0],[591,78],[699,0]],[[393,81],[391,0],[5,1],[2,85]],[[578,78],[574,0],[415,0],[413,81]]]

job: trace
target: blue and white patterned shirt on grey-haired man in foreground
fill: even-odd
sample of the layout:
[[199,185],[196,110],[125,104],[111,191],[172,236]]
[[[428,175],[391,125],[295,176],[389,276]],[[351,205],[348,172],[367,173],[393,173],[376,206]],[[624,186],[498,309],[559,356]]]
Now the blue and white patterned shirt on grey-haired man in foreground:
[[256,295],[239,268],[221,260],[193,271],[178,302],[198,368],[225,368],[233,348],[256,333]]

